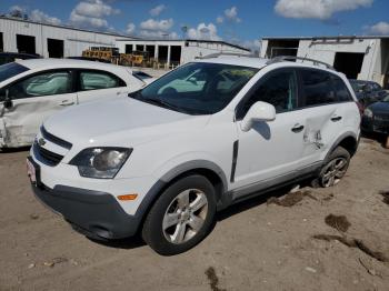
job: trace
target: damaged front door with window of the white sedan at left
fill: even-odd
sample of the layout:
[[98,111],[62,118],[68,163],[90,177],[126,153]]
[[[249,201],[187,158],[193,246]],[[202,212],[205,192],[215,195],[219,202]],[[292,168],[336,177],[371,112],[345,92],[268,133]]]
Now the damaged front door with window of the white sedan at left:
[[0,146],[6,147],[31,144],[48,117],[77,102],[72,74],[67,70],[40,72],[7,86],[2,92],[10,99],[7,107],[0,103]]

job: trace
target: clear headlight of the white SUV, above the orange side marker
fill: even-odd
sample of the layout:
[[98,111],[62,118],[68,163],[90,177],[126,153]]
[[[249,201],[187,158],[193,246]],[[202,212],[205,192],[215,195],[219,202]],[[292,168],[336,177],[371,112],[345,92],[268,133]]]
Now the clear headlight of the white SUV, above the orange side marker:
[[89,148],[77,154],[70,164],[87,178],[112,179],[130,157],[132,149]]

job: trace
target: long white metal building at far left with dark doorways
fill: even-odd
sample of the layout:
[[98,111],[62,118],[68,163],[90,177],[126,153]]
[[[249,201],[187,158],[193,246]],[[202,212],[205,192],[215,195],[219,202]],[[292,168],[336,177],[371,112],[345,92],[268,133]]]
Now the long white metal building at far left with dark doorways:
[[133,38],[0,17],[0,51],[38,53],[43,58],[81,56],[90,47],[116,47],[117,39]]

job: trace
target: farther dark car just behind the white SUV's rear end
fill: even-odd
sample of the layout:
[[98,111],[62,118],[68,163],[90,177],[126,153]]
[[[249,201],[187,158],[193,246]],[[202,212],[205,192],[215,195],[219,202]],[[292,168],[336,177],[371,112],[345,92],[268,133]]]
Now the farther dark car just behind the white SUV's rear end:
[[388,96],[381,86],[372,81],[350,80],[350,84],[363,108],[381,101]]

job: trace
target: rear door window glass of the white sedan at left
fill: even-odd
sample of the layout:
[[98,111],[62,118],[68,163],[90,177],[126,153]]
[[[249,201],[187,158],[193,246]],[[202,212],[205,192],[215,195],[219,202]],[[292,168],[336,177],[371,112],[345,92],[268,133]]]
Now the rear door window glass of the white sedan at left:
[[117,87],[124,87],[126,83],[116,76],[100,71],[80,72],[80,90],[99,90]]

